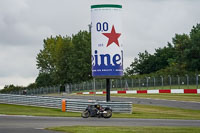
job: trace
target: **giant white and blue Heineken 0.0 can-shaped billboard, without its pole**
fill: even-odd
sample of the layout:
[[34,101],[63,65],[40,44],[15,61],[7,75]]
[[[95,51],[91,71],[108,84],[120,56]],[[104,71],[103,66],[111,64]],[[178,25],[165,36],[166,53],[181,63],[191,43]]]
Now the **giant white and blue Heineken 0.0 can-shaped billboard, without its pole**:
[[122,5],[91,6],[92,76],[123,76]]

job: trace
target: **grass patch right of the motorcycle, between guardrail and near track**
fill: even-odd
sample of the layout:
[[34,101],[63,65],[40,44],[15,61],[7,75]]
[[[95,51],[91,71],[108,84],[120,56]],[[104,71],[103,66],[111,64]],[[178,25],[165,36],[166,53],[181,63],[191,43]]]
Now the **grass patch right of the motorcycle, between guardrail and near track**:
[[118,118],[144,119],[200,119],[200,110],[180,109],[153,105],[134,104],[132,114],[117,114]]

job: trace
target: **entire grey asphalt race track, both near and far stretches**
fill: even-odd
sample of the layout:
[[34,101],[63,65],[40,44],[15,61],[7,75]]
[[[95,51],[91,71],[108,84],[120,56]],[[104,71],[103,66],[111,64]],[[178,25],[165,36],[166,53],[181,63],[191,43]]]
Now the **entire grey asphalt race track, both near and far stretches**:
[[[70,99],[95,99],[105,101],[105,96],[77,96],[66,95]],[[158,106],[177,107],[200,110],[200,102],[184,102],[175,100],[122,98],[111,97],[112,101],[130,101],[133,104],[148,104]],[[0,133],[58,133],[45,130],[47,127],[57,126],[198,126],[200,120],[171,120],[171,119],[125,119],[125,118],[88,118],[81,117],[35,117],[0,115]]]

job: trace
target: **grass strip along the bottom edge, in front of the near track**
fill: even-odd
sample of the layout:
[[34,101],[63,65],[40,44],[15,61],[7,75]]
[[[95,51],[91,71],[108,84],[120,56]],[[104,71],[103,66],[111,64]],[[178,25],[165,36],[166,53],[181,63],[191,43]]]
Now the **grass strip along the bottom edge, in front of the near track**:
[[49,130],[66,133],[199,133],[200,127],[109,127],[109,126],[66,126]]

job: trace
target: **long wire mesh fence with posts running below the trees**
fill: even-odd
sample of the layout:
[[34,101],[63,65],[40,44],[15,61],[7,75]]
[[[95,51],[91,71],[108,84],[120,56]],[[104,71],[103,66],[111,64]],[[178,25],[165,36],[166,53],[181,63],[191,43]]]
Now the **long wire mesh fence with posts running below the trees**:
[[[159,76],[144,78],[111,79],[111,90],[153,90],[153,89],[199,89],[200,75],[185,76]],[[50,93],[75,93],[85,91],[104,91],[106,89],[105,79],[96,79],[78,84],[65,84],[37,89],[27,88],[26,90],[14,91],[9,94],[20,95],[41,95]]]

